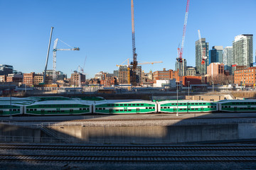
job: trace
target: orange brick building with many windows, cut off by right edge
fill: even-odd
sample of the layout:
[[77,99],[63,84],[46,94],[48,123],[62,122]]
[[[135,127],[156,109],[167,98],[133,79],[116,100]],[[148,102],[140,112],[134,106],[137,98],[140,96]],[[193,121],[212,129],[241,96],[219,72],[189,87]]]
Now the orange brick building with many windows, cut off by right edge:
[[235,70],[234,83],[243,86],[255,86],[256,67]]

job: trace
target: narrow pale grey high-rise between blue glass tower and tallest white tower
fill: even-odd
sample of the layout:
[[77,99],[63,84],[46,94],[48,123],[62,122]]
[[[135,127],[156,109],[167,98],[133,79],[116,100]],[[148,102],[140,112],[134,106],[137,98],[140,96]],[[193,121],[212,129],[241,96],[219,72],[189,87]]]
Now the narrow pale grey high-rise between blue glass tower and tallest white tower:
[[233,47],[232,46],[227,46],[223,50],[223,64],[224,64],[224,69],[228,70],[230,74],[232,74],[232,64],[233,62]]

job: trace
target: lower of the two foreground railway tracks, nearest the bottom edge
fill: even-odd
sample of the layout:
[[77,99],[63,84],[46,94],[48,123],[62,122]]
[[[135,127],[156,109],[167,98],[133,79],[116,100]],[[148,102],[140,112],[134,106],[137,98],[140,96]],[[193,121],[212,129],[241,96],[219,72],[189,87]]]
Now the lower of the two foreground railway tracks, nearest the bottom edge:
[[62,156],[34,154],[0,154],[0,162],[255,162],[256,156]]

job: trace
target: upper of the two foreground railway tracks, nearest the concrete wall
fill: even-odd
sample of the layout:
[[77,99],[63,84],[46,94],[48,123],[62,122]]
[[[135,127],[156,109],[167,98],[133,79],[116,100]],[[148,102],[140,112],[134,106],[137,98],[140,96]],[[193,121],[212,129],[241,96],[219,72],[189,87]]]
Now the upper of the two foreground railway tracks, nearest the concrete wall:
[[255,152],[256,146],[75,146],[75,145],[0,145],[0,149],[81,151],[81,152]]

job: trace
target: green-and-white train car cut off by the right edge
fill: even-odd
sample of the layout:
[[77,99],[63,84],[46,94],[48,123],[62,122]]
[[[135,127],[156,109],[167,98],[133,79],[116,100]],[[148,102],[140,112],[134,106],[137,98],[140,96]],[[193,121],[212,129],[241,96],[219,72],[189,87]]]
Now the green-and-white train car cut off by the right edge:
[[219,111],[225,112],[256,112],[256,100],[219,101]]

